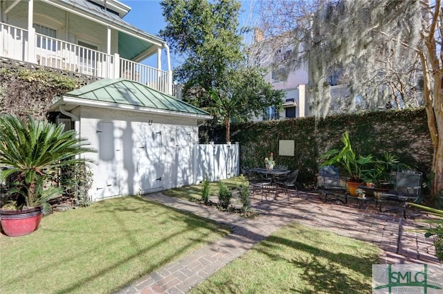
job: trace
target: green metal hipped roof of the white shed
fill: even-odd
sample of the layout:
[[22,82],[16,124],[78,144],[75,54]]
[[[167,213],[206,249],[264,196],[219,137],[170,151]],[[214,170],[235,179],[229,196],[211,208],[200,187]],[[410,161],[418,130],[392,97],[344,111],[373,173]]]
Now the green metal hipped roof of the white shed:
[[89,107],[126,109],[150,113],[188,116],[210,119],[210,113],[191,104],[178,100],[171,95],[156,91],[139,82],[125,79],[103,79],[80,89],[70,91],[53,104],[51,111],[64,105],[70,111],[79,105]]

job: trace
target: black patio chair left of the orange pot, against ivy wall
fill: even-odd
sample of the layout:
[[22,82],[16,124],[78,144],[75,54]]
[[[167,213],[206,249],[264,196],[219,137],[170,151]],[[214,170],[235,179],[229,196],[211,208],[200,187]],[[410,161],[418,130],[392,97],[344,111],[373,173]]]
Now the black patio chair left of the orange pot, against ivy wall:
[[[325,196],[323,202],[338,200],[341,203],[347,203],[347,188],[343,183],[338,167],[333,165],[325,165],[320,167],[320,176],[318,176],[318,189]],[[334,199],[328,199],[327,196],[331,194]],[[343,200],[344,199],[344,200]]]

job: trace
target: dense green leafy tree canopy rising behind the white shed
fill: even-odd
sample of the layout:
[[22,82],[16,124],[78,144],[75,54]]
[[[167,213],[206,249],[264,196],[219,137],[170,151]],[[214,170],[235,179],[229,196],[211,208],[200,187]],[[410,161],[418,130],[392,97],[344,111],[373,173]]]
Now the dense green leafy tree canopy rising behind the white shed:
[[264,81],[260,68],[247,64],[239,1],[163,0],[161,6],[167,25],[160,35],[184,59],[174,68],[175,79],[184,84],[183,100],[213,110],[215,97],[235,100],[230,104],[237,107],[223,116],[214,112],[224,122],[225,116],[237,121],[260,116],[264,107],[281,109],[282,92]]

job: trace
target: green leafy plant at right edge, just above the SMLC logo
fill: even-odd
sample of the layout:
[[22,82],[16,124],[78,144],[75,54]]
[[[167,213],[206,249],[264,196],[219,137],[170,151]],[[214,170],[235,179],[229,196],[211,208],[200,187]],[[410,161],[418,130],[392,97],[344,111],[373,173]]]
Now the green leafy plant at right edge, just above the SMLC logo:
[[420,229],[421,232],[424,232],[424,237],[434,238],[434,246],[435,246],[435,256],[438,260],[443,261],[443,210],[439,210],[437,208],[430,208],[428,206],[419,205],[417,203],[406,203],[407,205],[413,206],[415,208],[419,208],[421,210],[426,210],[430,214],[432,214],[435,219],[425,219],[424,223],[429,223],[429,228]]

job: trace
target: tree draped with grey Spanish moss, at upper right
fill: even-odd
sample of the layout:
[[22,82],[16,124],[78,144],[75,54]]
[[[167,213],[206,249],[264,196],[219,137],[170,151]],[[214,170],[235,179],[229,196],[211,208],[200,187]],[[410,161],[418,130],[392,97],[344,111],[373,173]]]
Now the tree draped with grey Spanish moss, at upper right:
[[287,64],[308,65],[318,115],[329,111],[327,77],[336,69],[351,99],[374,102],[391,91],[386,97],[408,104],[419,90],[434,147],[431,190],[443,190],[441,0],[275,0],[262,1],[260,11],[265,36],[278,44],[284,35],[298,49]]

